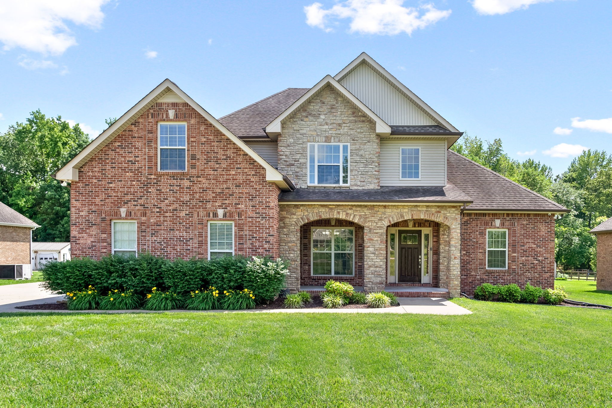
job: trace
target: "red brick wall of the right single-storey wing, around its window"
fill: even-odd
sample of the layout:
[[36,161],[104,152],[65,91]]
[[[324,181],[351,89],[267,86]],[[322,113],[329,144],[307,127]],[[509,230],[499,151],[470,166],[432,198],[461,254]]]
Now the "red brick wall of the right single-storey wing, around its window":
[[[501,220],[496,227],[495,220]],[[508,230],[508,269],[487,269],[487,229]],[[461,291],[484,282],[554,287],[554,219],[548,214],[463,214]]]

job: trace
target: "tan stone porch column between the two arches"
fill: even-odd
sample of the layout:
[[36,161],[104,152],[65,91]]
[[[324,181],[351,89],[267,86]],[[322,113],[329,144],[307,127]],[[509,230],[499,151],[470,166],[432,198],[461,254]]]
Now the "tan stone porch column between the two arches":
[[387,228],[383,225],[364,227],[364,290],[384,290],[387,283]]

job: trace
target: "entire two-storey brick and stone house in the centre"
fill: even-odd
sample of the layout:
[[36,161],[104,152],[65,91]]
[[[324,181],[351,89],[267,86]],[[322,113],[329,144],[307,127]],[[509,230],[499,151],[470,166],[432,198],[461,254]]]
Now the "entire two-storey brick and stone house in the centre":
[[364,53],[218,120],[166,79],[56,178],[75,257],[280,255],[292,291],[553,287],[567,209],[450,151],[462,134]]

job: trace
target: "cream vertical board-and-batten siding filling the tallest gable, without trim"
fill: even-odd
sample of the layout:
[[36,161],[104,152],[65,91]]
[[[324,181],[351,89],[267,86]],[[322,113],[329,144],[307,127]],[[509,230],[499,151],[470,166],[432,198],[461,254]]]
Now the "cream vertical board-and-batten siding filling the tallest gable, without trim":
[[340,81],[387,125],[437,125],[428,114],[365,64]]

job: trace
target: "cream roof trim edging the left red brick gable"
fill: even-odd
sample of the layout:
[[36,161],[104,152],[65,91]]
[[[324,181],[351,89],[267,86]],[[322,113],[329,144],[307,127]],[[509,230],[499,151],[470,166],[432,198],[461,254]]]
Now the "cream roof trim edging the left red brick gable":
[[136,118],[140,117],[144,111],[149,109],[155,102],[157,102],[163,95],[173,91],[185,102],[190,104],[199,114],[201,114],[206,120],[212,123],[217,129],[222,131],[225,136],[229,137],[235,144],[242,148],[249,156],[255,159],[256,162],[261,164],[266,169],[266,180],[271,183],[277,184],[282,189],[291,189],[291,182],[283,176],[277,169],[271,166],[261,156],[259,156],[255,150],[248,147],[245,142],[239,139],[236,135],[223,126],[215,117],[206,112],[196,101],[190,98],[187,93],[183,92],[174,82],[170,79],[165,79],[161,84],[155,87],[154,90],[149,92],[146,97],[136,103],[132,109],[125,112],[113,125],[109,126],[108,129],[103,131],[98,137],[91,141],[78,155],[70,160],[64,167],[58,170],[55,178],[62,181],[78,181],[78,169],[85,164],[95,153],[100,151],[108,142],[114,139],[121,131],[130,125]]

